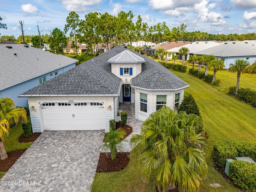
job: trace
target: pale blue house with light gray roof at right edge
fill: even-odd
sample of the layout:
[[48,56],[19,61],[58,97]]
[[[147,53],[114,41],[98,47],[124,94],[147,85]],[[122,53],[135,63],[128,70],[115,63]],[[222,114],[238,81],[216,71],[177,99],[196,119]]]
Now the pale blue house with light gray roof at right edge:
[[224,61],[224,68],[236,59],[248,60],[251,64],[256,60],[256,41],[228,41],[212,48],[195,52],[197,55],[214,55]]

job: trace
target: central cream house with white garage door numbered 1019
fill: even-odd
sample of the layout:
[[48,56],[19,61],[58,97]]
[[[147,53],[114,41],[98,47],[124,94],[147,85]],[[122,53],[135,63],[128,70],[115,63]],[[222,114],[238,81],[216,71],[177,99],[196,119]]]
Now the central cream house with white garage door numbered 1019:
[[187,87],[158,62],[119,45],[20,97],[28,98],[33,132],[108,132],[119,102],[135,103],[135,118],[143,121],[163,105],[178,107]]

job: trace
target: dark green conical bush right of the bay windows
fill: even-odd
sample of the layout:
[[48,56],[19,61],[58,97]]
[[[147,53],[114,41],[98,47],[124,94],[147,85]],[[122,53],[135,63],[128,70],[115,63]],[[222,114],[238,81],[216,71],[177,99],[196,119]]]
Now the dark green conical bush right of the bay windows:
[[178,112],[185,111],[187,114],[195,114],[200,116],[199,108],[192,94],[185,92],[182,103],[178,108]]

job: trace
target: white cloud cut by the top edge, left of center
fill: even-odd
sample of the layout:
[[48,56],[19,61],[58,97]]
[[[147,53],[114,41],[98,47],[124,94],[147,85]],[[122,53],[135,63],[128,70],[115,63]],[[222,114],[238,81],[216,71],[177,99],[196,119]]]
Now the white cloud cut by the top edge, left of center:
[[84,12],[87,6],[98,5],[102,0],[60,0],[66,11]]

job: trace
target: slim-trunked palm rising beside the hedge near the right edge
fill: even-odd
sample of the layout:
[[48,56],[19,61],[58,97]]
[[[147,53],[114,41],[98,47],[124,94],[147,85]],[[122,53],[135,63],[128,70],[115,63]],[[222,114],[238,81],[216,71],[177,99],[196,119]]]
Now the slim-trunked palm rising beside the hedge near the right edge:
[[239,83],[240,83],[240,76],[241,73],[244,73],[246,67],[250,66],[250,62],[244,59],[236,59],[234,63],[229,65],[230,72],[237,72],[237,82],[236,82],[236,93],[238,95]]

